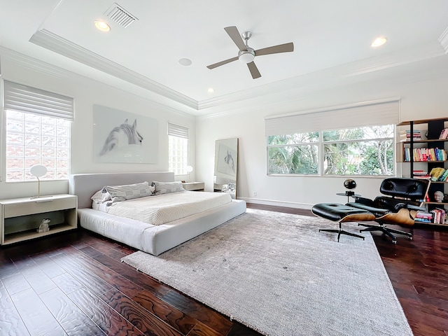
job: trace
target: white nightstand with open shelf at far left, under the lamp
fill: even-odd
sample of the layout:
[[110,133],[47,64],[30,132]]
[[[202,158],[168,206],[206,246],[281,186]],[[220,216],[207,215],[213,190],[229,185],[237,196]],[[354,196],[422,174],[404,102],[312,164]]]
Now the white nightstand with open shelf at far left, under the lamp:
[[[76,229],[78,198],[75,195],[52,195],[38,198],[0,200],[1,245]],[[50,230],[36,232],[43,218],[50,218]]]

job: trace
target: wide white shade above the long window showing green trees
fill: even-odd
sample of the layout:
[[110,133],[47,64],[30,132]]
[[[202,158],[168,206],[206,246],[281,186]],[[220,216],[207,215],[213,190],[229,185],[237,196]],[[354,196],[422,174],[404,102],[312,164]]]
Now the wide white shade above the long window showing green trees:
[[341,130],[351,127],[395,125],[400,117],[400,99],[366,102],[328,109],[265,117],[265,135]]

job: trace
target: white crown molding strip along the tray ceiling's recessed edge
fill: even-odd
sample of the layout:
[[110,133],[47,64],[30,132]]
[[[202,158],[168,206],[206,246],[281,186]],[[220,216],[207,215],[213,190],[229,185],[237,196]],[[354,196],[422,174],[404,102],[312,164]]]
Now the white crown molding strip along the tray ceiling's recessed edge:
[[[367,59],[360,59],[355,62],[334,66],[332,68],[315,71],[313,73],[304,73],[300,76],[288,78],[286,80],[279,80],[274,83],[261,85],[248,90],[241,90],[230,94],[223,94],[219,97],[196,101],[187,97],[180,92],[170,89],[165,85],[151,80],[146,76],[132,71],[130,69],[112,62],[100,55],[87,50],[80,45],[72,43],[51,31],[41,29],[31,36],[31,43],[39,45],[45,49],[57,52],[59,55],[64,55],[77,62],[90,66],[94,69],[107,73],[111,76],[124,80],[127,83],[137,85],[160,94],[160,96],[171,99],[173,102],[178,102],[184,106],[188,106],[195,111],[203,111],[218,106],[224,106],[232,103],[241,102],[248,99],[256,99],[263,96],[278,94],[285,90],[309,90],[318,88],[332,83],[340,83],[356,80],[360,75],[366,73],[375,73],[377,71],[403,66],[405,64],[412,64],[423,59],[430,59],[448,53],[448,28],[440,36],[439,43],[428,43],[426,45],[416,45],[413,48],[406,50],[398,50],[390,52],[383,57],[370,57]],[[56,76],[56,75],[55,75]]]

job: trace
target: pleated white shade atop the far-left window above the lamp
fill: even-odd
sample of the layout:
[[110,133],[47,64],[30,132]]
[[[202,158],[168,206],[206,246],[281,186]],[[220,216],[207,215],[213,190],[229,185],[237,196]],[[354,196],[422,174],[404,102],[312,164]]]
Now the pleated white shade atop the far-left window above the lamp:
[[4,109],[73,120],[73,98],[3,80]]

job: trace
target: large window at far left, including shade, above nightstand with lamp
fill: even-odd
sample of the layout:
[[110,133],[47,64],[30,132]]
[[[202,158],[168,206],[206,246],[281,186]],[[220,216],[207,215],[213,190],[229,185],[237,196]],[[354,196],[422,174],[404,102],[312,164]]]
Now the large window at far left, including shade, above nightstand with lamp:
[[3,81],[6,182],[35,181],[29,169],[44,165],[41,180],[66,180],[70,171],[73,99]]

